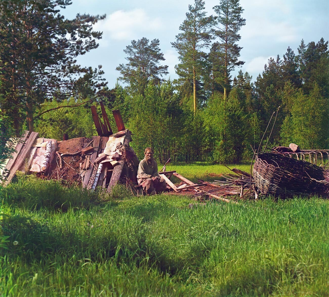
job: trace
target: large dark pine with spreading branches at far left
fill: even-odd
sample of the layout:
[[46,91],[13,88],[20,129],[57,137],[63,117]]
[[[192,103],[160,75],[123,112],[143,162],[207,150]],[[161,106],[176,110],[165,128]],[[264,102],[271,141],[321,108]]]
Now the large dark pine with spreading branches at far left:
[[13,118],[16,133],[21,116],[33,131],[34,112],[45,100],[61,102],[77,94],[87,98],[104,85],[101,66],[80,67],[76,57],[98,47],[95,40],[102,33],[92,26],[105,16],[77,14],[73,20],[64,19],[59,8],[70,4],[69,0],[0,2],[1,106]]

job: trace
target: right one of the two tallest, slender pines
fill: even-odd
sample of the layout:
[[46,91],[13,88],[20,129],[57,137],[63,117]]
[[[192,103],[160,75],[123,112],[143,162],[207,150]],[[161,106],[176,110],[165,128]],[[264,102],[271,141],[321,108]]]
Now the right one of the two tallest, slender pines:
[[217,13],[216,36],[219,38],[218,46],[224,53],[224,101],[227,98],[227,89],[230,87],[230,72],[236,66],[244,64],[239,61],[242,47],[237,42],[241,36],[238,34],[245,19],[241,17],[243,12],[239,0],[220,0],[220,4],[214,7]]

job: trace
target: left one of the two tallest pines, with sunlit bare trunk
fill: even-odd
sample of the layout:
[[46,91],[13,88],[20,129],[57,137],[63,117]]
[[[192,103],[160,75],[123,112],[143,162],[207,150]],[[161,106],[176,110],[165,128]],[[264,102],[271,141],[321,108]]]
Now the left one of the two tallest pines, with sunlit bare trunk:
[[179,54],[180,64],[175,66],[180,76],[179,82],[184,86],[193,85],[194,115],[198,104],[197,88],[206,69],[207,55],[203,49],[211,43],[210,31],[214,23],[213,16],[206,16],[204,6],[201,0],[195,0],[193,6],[189,5],[186,19],[179,27],[183,32],[176,35],[176,42],[171,43]]

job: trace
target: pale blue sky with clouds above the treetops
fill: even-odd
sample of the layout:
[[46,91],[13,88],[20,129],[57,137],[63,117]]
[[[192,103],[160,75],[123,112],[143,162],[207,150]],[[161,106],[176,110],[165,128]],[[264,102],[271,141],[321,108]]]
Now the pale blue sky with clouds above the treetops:
[[[189,4],[194,0],[72,0],[72,5],[62,10],[65,18],[72,19],[77,13],[106,14],[106,18],[94,25],[103,32],[99,47],[78,58],[82,66],[103,66],[108,87],[113,88],[120,76],[115,68],[127,60],[123,50],[131,40],[146,37],[160,41],[164,65],[168,65],[166,79],[176,79],[175,65],[178,54],[171,46],[180,33],[179,26],[185,20]],[[213,7],[219,0],[205,0],[205,11],[214,14]],[[305,44],[317,42],[321,37],[329,40],[328,0],[240,0],[242,17],[246,25],[241,28],[238,42],[242,47],[240,60],[244,65],[232,73],[232,78],[241,69],[255,81],[264,70],[270,57],[281,58],[290,47],[295,55],[301,40]]]

